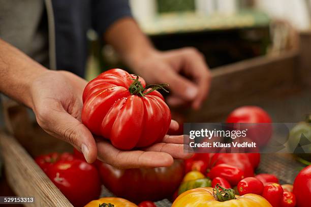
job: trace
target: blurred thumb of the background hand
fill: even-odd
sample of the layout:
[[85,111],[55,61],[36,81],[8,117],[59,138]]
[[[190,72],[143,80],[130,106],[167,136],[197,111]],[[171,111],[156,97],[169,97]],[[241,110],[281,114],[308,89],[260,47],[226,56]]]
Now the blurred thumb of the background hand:
[[175,96],[184,100],[193,100],[198,94],[197,86],[174,70],[168,69],[162,81],[170,85],[169,87]]

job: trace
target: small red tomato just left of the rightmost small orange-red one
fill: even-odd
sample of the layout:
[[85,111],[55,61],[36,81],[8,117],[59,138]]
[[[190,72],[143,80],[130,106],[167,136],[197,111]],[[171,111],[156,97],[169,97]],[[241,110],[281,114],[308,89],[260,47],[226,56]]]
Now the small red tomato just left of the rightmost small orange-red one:
[[262,197],[266,198],[272,207],[281,206],[283,188],[278,183],[271,183],[264,187]]

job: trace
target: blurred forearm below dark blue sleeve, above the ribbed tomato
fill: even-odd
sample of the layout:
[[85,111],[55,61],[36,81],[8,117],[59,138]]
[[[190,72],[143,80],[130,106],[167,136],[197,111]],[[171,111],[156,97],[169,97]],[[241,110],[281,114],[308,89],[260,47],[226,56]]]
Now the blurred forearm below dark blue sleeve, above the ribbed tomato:
[[141,59],[157,53],[150,40],[130,17],[120,19],[110,26],[104,34],[104,39],[134,70]]

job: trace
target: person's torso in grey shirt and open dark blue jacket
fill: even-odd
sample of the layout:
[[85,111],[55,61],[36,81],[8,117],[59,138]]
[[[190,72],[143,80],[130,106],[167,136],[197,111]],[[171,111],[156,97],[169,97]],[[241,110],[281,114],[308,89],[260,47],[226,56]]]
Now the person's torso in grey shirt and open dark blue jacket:
[[[89,0],[52,0],[55,29],[48,29],[44,0],[0,0],[0,38],[49,67],[49,37],[55,37],[57,70],[84,76]],[[49,9],[49,8],[47,8]],[[51,9],[51,8],[50,8]],[[49,25],[51,28],[51,25]]]

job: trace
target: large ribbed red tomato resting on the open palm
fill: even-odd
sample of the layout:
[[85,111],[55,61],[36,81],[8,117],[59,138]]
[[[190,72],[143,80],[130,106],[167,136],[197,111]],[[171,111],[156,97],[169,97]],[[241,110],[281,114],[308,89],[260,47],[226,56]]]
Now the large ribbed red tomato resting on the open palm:
[[102,73],[83,91],[83,124],[122,150],[161,142],[171,112],[155,90],[166,84],[145,85],[142,78],[121,69]]

